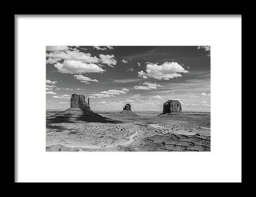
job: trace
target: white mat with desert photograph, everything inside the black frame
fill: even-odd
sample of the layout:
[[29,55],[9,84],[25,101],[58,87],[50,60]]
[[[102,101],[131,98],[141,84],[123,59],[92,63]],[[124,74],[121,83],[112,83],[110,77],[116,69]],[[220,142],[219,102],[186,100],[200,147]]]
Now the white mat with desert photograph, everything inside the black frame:
[[241,15],[15,15],[15,116],[17,183],[241,183]]

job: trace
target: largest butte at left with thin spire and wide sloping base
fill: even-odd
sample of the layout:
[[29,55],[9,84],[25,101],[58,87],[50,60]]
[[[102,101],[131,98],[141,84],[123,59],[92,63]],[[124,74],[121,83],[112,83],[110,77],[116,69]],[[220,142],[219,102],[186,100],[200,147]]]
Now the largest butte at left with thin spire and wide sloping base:
[[72,120],[81,120],[84,122],[111,122],[112,119],[100,116],[90,109],[90,99],[85,101],[84,95],[73,94],[70,99],[70,108],[57,113],[54,116],[47,117],[50,122],[67,122]]

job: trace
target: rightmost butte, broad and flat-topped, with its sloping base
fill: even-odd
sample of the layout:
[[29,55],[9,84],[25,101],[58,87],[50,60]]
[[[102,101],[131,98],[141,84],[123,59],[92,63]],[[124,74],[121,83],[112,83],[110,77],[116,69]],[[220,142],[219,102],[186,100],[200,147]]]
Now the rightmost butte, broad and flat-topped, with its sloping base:
[[168,100],[163,104],[163,113],[158,115],[163,118],[186,118],[182,113],[181,103],[178,100]]

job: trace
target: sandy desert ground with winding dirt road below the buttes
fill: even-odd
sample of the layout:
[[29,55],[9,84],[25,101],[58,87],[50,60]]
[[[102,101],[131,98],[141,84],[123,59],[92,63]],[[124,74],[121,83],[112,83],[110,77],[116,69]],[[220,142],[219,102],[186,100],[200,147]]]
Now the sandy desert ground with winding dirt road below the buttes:
[[119,123],[47,122],[46,151],[210,151],[210,114],[185,114],[188,119],[105,113]]

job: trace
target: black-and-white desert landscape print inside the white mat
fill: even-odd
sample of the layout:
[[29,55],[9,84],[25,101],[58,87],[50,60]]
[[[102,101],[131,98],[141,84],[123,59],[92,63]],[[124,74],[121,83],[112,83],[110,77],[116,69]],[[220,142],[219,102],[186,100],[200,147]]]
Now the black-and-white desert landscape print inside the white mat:
[[210,151],[210,46],[46,46],[46,151]]

